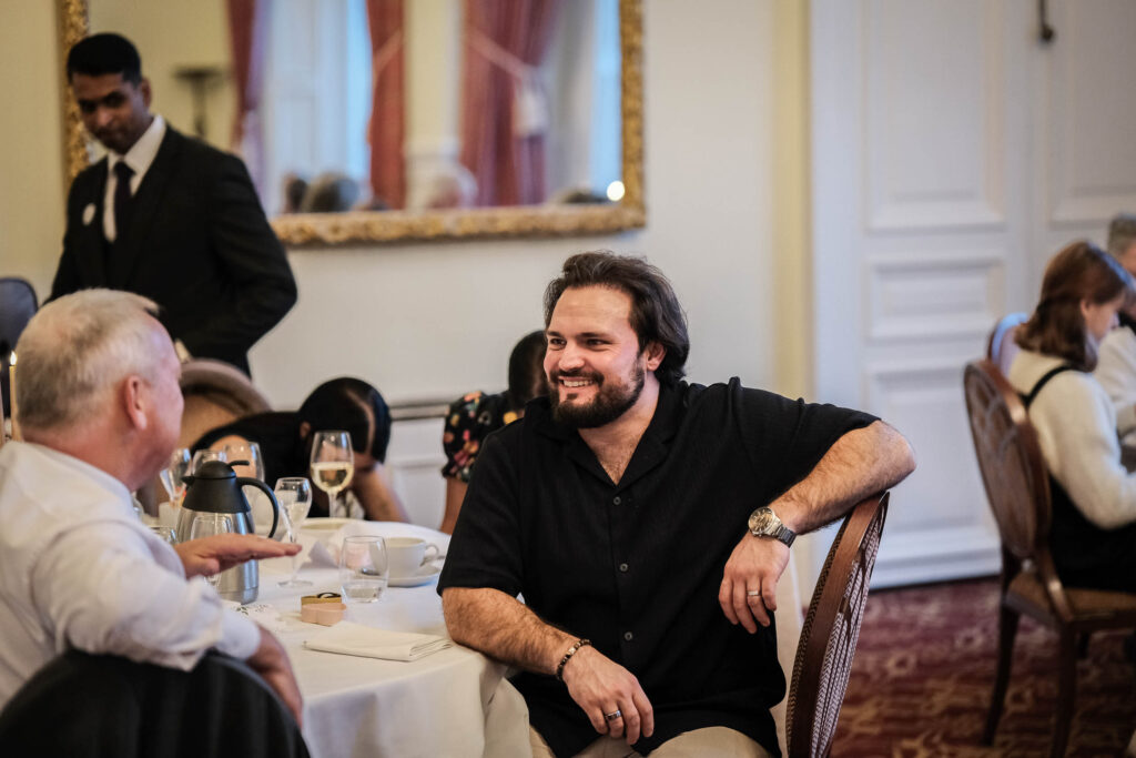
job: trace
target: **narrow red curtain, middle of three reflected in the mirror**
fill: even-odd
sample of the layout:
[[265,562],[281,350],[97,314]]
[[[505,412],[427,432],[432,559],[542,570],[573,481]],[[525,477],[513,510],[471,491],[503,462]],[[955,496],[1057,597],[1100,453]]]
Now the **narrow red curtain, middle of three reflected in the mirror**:
[[406,206],[402,0],[367,0],[370,27],[370,191],[390,208]]

